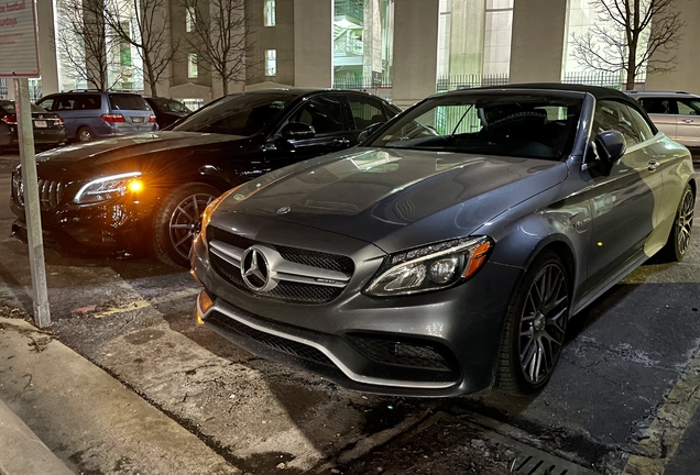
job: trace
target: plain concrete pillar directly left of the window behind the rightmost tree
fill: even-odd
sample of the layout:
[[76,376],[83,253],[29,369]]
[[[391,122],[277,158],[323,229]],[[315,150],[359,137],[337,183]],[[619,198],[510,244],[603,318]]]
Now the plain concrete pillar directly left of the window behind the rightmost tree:
[[510,82],[560,82],[567,0],[515,0]]

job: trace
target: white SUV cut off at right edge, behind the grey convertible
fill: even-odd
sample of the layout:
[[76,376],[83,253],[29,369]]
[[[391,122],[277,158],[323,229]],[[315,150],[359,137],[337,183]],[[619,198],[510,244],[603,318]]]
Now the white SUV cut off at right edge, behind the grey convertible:
[[700,96],[688,92],[627,91],[656,126],[693,153],[700,153]]

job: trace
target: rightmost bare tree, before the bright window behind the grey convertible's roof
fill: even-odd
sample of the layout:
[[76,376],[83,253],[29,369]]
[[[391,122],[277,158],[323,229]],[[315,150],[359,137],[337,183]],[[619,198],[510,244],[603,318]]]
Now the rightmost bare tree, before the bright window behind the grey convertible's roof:
[[683,22],[674,0],[594,0],[598,22],[586,34],[572,35],[572,56],[591,69],[625,75],[626,89],[647,73],[669,73],[676,56],[656,53],[678,46]]

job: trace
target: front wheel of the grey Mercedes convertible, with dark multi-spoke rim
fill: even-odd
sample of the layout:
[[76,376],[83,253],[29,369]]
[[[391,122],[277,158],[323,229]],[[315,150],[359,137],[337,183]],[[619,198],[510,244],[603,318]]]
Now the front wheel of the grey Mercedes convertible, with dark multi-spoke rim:
[[513,296],[496,367],[496,388],[529,394],[554,373],[564,345],[571,302],[559,256],[546,252],[525,273]]

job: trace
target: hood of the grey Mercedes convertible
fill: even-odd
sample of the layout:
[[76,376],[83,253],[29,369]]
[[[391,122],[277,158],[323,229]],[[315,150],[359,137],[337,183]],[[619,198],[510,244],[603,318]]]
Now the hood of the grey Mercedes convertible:
[[253,214],[395,252],[469,235],[567,175],[565,163],[544,159],[356,148],[250,181],[218,206],[217,221]]

